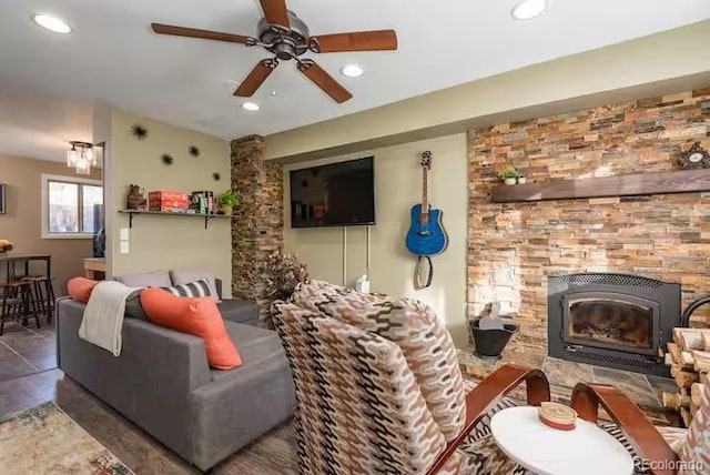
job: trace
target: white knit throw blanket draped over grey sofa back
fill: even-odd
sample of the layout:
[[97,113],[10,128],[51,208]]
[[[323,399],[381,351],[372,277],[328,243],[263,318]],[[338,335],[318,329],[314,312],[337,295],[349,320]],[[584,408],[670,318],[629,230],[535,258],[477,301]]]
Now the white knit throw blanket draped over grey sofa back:
[[79,337],[119,356],[125,300],[138,289],[120,282],[100,282],[89,297],[79,327]]

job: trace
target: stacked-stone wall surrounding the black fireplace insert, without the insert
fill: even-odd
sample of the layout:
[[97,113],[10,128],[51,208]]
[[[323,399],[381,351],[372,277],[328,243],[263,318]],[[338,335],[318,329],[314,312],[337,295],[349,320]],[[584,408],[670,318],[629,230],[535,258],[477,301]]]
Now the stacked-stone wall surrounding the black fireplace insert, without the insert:
[[[520,332],[510,353],[547,354],[547,276],[620,272],[710,294],[710,193],[491,203],[499,174],[574,180],[678,169],[710,149],[710,88],[469,132],[468,317],[501,301]],[[698,311],[699,320],[706,320]],[[508,351],[507,351],[508,352]]]

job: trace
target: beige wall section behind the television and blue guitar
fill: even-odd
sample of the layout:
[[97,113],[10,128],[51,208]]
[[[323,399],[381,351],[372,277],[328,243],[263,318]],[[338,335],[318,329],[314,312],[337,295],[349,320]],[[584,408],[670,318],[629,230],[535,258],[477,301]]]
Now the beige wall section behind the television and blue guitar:
[[[292,229],[288,172],[347,159],[375,156],[375,210],[377,225],[371,228],[371,290],[393,295],[416,297],[436,311],[449,329],[457,345],[467,341],[466,314],[466,134],[444,137],[425,142],[376,149],[355,155],[318,160],[284,169],[284,247],[295,252],[308,265],[312,277],[343,283],[343,228]],[[434,257],[434,282],[414,290],[416,260],[405,245],[409,226],[409,209],[420,201],[422,168],[419,154],[434,152],[429,175],[429,199],[444,212],[448,249]],[[367,269],[366,229],[347,228],[346,282]]]

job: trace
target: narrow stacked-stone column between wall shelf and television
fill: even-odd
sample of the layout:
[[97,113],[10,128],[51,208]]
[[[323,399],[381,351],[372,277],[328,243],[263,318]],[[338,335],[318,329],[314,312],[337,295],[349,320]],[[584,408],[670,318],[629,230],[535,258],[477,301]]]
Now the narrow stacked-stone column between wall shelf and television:
[[263,322],[270,322],[261,264],[283,247],[283,170],[264,161],[264,138],[232,141],[232,189],[242,204],[232,224],[232,294],[256,301]]

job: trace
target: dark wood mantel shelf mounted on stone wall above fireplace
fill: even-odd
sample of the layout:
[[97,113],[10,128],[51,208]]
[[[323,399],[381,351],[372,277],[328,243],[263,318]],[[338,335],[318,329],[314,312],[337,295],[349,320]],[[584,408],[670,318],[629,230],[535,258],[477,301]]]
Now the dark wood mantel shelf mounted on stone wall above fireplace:
[[498,185],[494,203],[710,191],[710,169]]

